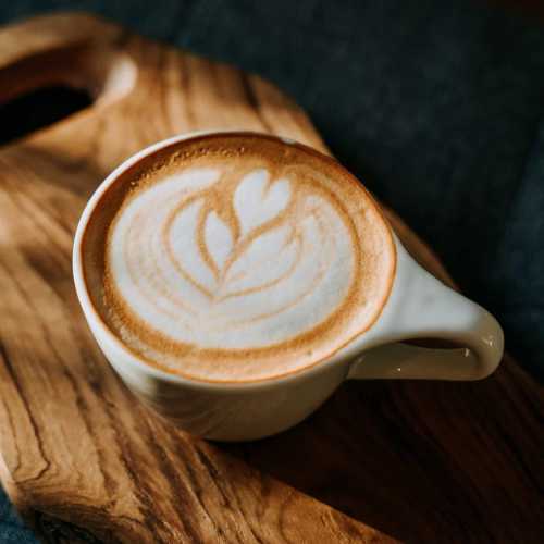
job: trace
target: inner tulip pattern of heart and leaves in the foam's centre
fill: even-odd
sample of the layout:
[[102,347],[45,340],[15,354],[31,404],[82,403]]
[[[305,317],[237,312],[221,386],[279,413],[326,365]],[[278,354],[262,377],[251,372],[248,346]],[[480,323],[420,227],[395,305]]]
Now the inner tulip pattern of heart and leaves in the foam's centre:
[[[271,223],[290,201],[287,178],[270,183],[267,170],[254,170],[242,177],[233,193],[222,194],[222,198],[232,199],[239,224],[237,238],[233,225],[221,218],[210,203],[214,200],[209,201],[206,195],[182,208],[171,231],[174,249],[171,255],[176,255],[193,285],[215,301],[245,288],[256,289],[259,284],[265,287],[284,275],[295,260],[290,255],[295,247],[289,239],[290,227],[282,221]],[[205,218],[199,222],[197,217],[201,213]],[[198,224],[203,228],[200,233]],[[279,267],[282,259],[286,264]]]

